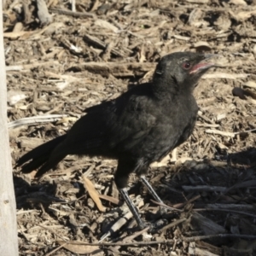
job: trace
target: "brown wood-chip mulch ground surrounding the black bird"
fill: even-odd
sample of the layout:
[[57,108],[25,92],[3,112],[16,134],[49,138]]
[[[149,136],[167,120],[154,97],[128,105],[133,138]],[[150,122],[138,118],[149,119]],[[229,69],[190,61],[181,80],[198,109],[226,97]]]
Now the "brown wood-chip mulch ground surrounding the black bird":
[[6,1],[14,166],[85,108],[150,80],[163,55],[206,51],[221,66],[195,90],[193,135],[148,171],[165,216],[130,177],[158,232],[137,230],[113,183],[116,161],[69,155],[39,180],[14,170],[20,255],[256,255],[255,15],[254,0]]

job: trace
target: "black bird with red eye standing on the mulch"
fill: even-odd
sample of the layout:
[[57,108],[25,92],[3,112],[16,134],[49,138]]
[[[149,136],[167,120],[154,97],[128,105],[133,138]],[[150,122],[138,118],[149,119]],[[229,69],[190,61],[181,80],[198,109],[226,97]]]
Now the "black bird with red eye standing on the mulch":
[[108,102],[87,108],[67,134],[44,143],[17,161],[21,172],[37,169],[37,177],[55,167],[67,154],[117,159],[114,181],[137,220],[145,226],[131,202],[127,181],[136,172],[154,199],[159,196],[145,175],[148,166],[160,161],[188,139],[198,111],[193,90],[210,67],[212,55],[177,52],[161,58],[151,83],[139,84]]

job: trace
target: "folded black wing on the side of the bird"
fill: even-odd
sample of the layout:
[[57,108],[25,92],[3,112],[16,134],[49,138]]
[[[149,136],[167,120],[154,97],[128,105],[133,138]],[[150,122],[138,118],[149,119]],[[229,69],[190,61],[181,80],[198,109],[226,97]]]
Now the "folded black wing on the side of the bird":
[[68,132],[68,145],[76,145],[84,151],[86,148],[125,151],[143,140],[155,125],[156,118],[150,113],[152,100],[138,89],[87,108],[87,114]]

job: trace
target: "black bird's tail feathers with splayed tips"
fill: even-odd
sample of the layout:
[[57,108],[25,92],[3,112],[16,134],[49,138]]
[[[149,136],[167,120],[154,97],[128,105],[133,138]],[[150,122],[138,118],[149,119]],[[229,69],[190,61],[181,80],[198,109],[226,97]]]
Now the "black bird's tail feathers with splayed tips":
[[[62,150],[55,150],[60,147],[66,137],[66,134],[56,137],[55,139],[32,149],[17,160],[16,166],[22,166],[27,161],[31,160],[28,164],[22,166],[21,172],[29,173],[41,166],[36,177],[41,176],[44,172],[47,172],[49,169],[56,166],[59,161],[66,156]],[[55,151],[54,154],[52,154],[53,151]]]

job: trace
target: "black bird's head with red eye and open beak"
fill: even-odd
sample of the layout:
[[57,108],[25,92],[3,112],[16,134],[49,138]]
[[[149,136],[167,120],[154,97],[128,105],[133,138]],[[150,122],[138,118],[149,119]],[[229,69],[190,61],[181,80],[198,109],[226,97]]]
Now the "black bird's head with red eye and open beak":
[[[154,71],[154,84],[170,86],[172,90],[192,92],[202,74],[216,65],[211,54],[177,52],[162,57]],[[157,85],[157,86],[159,86]],[[166,88],[165,88],[166,90]]]

